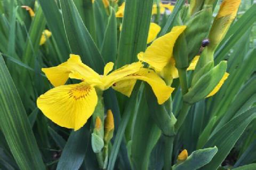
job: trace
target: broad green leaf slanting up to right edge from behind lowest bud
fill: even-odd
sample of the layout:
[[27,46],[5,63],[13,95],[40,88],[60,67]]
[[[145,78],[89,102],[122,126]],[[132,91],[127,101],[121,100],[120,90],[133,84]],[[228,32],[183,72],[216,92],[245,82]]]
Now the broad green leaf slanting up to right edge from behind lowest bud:
[[245,111],[243,114],[230,120],[217,133],[210,137],[204,148],[216,145],[219,149],[212,161],[201,169],[217,169],[223,160],[227,157],[230,150],[234,147],[236,141],[245,131],[245,128],[256,118],[256,107]]

